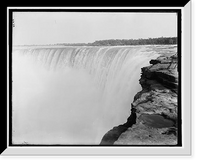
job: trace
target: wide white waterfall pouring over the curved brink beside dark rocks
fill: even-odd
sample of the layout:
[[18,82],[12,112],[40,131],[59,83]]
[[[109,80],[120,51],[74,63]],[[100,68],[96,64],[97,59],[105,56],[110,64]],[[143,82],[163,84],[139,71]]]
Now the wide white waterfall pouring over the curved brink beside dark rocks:
[[130,115],[141,68],[174,48],[14,47],[12,143],[98,145]]

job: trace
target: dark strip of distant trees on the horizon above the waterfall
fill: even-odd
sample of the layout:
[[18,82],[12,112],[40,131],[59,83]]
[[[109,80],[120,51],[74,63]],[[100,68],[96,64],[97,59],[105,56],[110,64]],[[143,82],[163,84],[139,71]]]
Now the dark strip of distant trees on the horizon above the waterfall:
[[93,43],[62,43],[62,45],[75,46],[120,46],[120,45],[152,45],[177,44],[177,37],[159,37],[148,39],[108,39],[97,40]]

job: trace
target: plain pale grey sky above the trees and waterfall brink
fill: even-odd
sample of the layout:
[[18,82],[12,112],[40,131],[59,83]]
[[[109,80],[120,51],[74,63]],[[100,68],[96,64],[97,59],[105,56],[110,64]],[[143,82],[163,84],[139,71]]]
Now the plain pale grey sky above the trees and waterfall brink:
[[177,36],[176,13],[14,12],[13,45]]

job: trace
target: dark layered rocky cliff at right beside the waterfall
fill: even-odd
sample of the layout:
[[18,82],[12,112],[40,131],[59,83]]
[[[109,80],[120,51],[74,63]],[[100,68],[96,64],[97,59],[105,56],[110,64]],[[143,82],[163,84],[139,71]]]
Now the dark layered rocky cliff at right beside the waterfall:
[[160,56],[142,68],[138,92],[125,124],[114,127],[101,145],[177,144],[177,54]]

